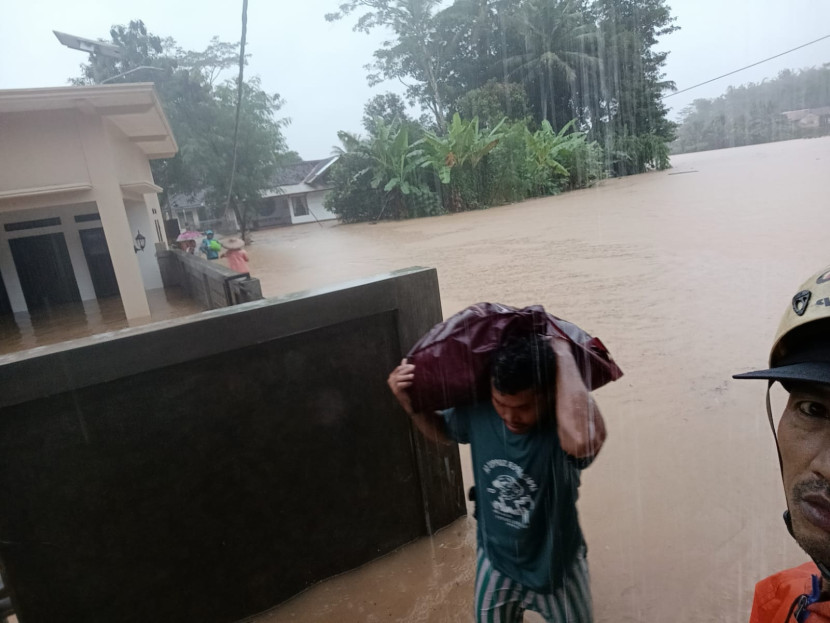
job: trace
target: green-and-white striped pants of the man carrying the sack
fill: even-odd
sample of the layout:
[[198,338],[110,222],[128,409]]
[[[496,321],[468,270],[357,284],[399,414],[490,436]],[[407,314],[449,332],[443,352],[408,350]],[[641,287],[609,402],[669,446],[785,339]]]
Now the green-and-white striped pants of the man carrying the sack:
[[591,623],[588,561],[578,557],[556,592],[536,593],[497,571],[478,548],[476,623],[521,623],[525,610],[538,612],[548,623]]

